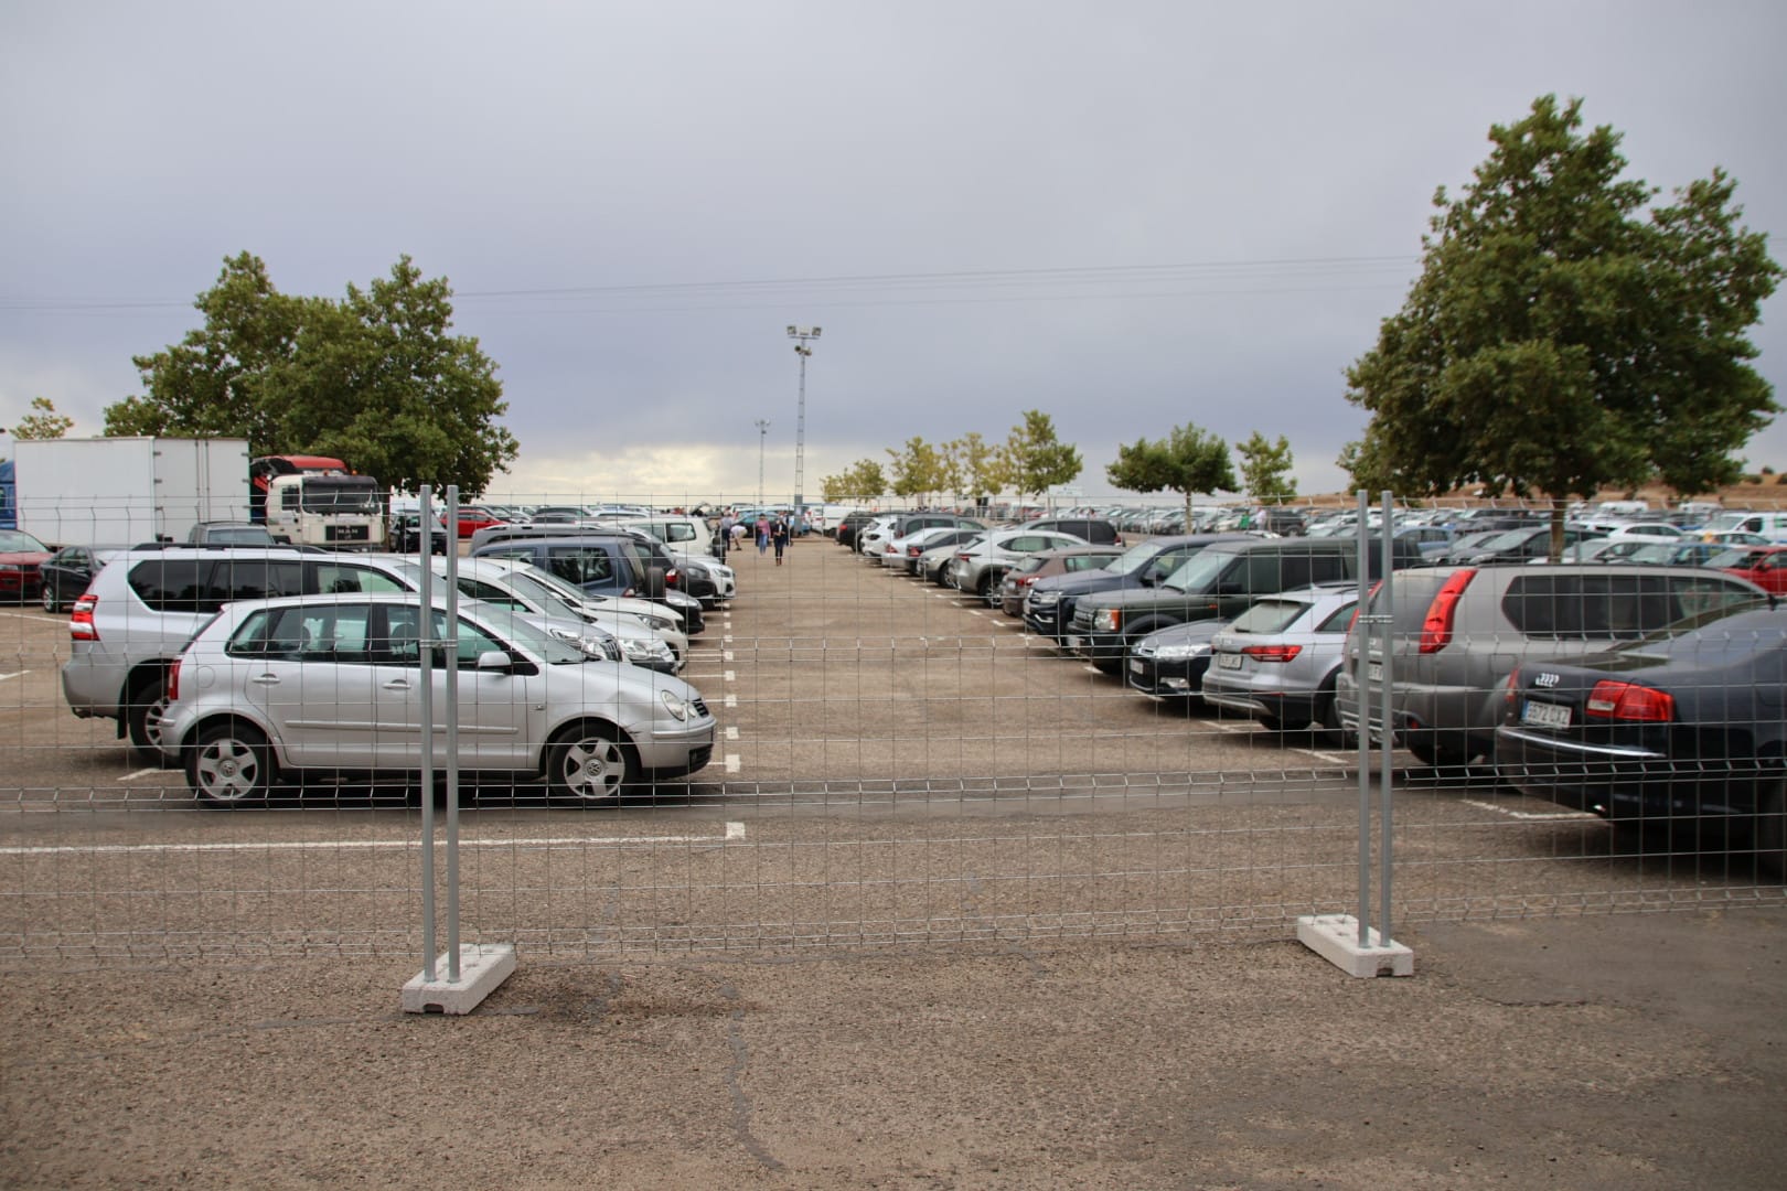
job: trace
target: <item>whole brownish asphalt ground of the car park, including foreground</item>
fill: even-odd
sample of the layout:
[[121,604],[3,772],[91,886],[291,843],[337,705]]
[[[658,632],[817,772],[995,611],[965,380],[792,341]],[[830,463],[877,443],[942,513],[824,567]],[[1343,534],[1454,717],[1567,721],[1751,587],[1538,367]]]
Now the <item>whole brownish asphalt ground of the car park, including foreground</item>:
[[[736,562],[709,771],[466,814],[524,962],[465,1020],[397,1012],[402,796],[195,811],[0,611],[0,1186],[1782,1186],[1787,909],[1742,857],[1412,782],[1417,975],[1351,980],[1283,941],[1347,905],[1349,755],[829,543]],[[1596,912],[1639,905],[1698,909]]]

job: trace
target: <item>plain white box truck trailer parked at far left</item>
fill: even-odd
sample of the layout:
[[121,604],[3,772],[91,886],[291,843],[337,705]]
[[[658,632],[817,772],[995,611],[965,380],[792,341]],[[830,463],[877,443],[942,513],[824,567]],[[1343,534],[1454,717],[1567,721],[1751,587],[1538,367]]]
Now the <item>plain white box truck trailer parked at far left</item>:
[[20,439],[18,527],[52,545],[186,541],[198,521],[248,520],[248,441]]

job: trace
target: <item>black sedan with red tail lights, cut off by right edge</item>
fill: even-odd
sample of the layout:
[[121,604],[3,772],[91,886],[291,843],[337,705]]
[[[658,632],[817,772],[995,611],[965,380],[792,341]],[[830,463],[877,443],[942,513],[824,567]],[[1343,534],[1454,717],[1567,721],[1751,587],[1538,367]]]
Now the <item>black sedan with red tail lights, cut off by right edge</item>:
[[1615,821],[1735,821],[1782,873],[1787,609],[1724,616],[1508,677],[1496,761],[1521,791]]

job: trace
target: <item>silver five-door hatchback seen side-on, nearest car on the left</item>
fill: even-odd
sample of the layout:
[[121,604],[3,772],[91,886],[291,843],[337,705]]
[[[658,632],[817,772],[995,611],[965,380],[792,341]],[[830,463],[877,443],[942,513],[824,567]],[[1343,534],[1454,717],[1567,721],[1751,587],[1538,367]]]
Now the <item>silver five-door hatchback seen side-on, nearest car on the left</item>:
[[[313,771],[422,770],[422,641],[454,641],[441,607],[422,632],[413,593],[315,595],[225,605],[168,680],[161,750],[202,804],[264,800]],[[715,720],[690,684],[591,659],[536,620],[459,607],[457,759],[466,773],[543,779],[570,802],[615,802],[652,777],[693,773]],[[432,671],[434,759],[445,762],[447,654]]]

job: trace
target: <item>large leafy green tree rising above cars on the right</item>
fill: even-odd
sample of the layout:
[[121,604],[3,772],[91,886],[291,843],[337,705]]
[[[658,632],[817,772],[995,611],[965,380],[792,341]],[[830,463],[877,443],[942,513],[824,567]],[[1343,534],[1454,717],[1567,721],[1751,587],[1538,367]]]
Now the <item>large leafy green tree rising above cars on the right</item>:
[[1542,96],[1489,139],[1464,195],[1435,193],[1422,273],[1347,370],[1371,412],[1351,461],[1405,495],[1549,496],[1555,557],[1573,495],[1739,473],[1732,452],[1778,412],[1746,330],[1782,270],[1723,170],[1646,211],[1658,191],[1621,180],[1621,137],[1583,134],[1581,100]]

